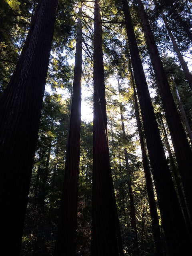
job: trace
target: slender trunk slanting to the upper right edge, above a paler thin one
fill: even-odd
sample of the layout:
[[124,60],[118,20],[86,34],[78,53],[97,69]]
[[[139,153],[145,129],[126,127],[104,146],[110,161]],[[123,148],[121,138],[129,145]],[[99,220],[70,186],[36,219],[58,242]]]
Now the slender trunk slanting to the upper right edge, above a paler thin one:
[[186,62],[185,62],[185,60],[184,60],[184,58],[183,58],[183,56],[182,56],[182,54],[181,54],[181,52],[180,52],[180,50],[178,48],[176,40],[175,40],[175,38],[174,38],[174,36],[173,36],[173,34],[171,32],[170,26],[169,26],[169,24],[168,24],[164,14],[162,14],[162,18],[163,18],[163,20],[165,22],[165,25],[166,25],[166,28],[168,30],[169,36],[170,36],[170,38],[172,40],[173,48],[174,48],[174,50],[175,50],[175,52],[176,52],[176,54],[178,56],[178,59],[180,61],[182,69],[184,71],[185,77],[186,77],[186,79],[188,81],[188,84],[189,84],[191,90],[192,90],[192,74],[190,73],[190,71],[188,69],[188,66],[187,66],[187,64],[186,64]]

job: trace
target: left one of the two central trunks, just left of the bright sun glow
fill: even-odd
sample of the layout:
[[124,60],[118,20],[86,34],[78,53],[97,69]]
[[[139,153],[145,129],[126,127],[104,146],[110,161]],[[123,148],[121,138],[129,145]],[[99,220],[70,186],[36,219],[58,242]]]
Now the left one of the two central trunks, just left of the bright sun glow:
[[[80,16],[81,12],[82,9],[79,8]],[[69,136],[60,206],[60,218],[58,222],[58,234],[54,249],[55,256],[74,256],[76,250],[78,178],[80,162],[81,75],[82,25],[81,19],[78,17],[70,128],[68,133]]]

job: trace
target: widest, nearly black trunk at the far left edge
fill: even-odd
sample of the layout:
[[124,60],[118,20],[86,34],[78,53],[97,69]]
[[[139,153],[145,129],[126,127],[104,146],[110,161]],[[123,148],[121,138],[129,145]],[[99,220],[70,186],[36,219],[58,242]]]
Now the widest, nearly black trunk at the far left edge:
[[1,248],[8,255],[20,252],[57,5],[39,1],[0,102]]

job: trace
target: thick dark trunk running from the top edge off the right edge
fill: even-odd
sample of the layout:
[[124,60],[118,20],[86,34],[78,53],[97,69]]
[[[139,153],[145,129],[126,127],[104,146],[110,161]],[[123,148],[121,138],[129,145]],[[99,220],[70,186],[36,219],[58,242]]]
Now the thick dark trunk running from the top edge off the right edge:
[[[163,107],[165,110],[167,124],[170,130],[176,160],[181,170],[182,180],[184,184],[184,190],[188,206],[192,205],[191,187],[192,187],[192,151],[188,143],[180,116],[174,103],[174,98],[170,90],[166,73],[164,71],[162,62],[160,60],[158,48],[156,46],[154,36],[152,34],[150,25],[148,23],[147,16],[144,11],[144,6],[141,0],[137,0],[140,10],[140,17],[144,26],[144,33],[152,66],[154,68],[156,81],[158,84],[160,96],[162,99]],[[192,76],[191,76],[192,78]],[[192,208],[190,207],[190,214],[192,216]]]

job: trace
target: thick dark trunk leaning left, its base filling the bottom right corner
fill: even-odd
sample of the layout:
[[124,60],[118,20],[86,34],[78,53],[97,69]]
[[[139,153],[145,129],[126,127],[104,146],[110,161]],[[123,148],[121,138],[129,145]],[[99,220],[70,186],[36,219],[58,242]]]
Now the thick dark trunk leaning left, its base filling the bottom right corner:
[[128,2],[127,0],[122,0],[122,3],[148,154],[168,248],[170,255],[187,254],[187,251],[191,250],[190,240],[158,131],[134,35]]

